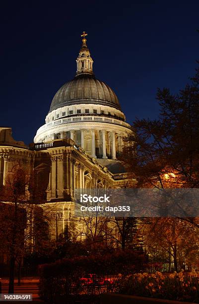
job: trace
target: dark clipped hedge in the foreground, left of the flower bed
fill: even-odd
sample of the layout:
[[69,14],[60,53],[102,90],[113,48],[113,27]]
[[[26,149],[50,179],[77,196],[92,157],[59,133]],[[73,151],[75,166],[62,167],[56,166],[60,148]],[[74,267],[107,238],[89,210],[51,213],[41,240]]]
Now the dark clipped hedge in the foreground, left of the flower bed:
[[[44,264],[40,266],[40,296],[48,303],[59,303],[59,295],[66,300],[82,292],[79,279],[85,274],[117,277],[118,273],[140,271],[145,262],[145,257],[137,252],[120,250],[104,256],[79,256]],[[99,293],[99,289],[92,288],[87,292],[95,294]]]

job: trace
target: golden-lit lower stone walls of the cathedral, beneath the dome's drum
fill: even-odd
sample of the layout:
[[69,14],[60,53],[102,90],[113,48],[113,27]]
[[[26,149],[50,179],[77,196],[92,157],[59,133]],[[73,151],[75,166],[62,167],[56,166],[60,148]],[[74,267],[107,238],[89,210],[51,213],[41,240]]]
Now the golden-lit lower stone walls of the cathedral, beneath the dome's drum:
[[[0,128],[0,186],[13,168],[22,168],[27,180],[35,176],[36,192],[42,185],[48,210],[51,238],[74,229],[75,189],[120,188],[128,181],[127,173],[113,174],[71,139],[54,140],[26,147],[11,137],[11,128]],[[37,188],[38,187],[38,188]],[[31,196],[31,190],[27,186]],[[38,206],[38,196],[35,205]]]

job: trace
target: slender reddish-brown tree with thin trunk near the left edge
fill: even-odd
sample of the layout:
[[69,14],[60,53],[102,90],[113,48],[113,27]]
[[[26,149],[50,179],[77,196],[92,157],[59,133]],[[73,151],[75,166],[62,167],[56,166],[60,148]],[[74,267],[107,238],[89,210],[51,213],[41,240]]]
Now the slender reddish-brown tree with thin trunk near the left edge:
[[27,177],[25,172],[15,166],[7,175],[6,183],[1,189],[1,215],[0,234],[2,234],[7,247],[9,258],[9,293],[14,291],[14,268],[17,259],[21,259],[24,250],[24,229],[26,228],[26,211],[21,208],[28,200]]

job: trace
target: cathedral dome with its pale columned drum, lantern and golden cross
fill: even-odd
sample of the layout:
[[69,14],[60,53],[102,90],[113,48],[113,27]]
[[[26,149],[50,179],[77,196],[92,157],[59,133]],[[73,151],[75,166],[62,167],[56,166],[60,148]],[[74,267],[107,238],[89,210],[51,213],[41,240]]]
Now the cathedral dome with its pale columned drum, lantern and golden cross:
[[81,147],[83,152],[108,165],[122,151],[123,138],[131,126],[126,122],[115,92],[95,77],[86,36],[86,32],[81,35],[76,76],[55,94],[46,124],[37,130],[34,142],[48,146],[52,141],[70,138],[75,147]]

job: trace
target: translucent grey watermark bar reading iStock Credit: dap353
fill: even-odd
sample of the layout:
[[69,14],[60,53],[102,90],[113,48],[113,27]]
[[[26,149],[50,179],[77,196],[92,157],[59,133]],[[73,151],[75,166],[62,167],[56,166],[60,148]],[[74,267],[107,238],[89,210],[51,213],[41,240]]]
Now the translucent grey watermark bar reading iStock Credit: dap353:
[[199,189],[76,189],[75,216],[199,217]]

